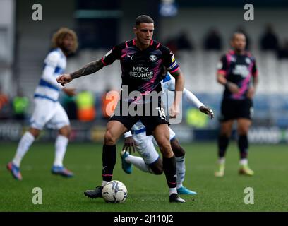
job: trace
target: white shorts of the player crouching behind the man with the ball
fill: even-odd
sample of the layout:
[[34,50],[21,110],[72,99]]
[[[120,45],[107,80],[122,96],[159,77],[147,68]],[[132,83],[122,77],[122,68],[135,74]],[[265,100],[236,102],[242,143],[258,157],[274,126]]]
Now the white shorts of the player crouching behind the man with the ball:
[[[175,137],[174,131],[169,128],[170,141]],[[159,154],[155,148],[157,142],[153,136],[147,136],[145,131],[143,133],[134,133],[133,139],[136,142],[136,150],[143,157],[146,164],[150,165],[159,158]],[[158,146],[158,145],[157,145]]]

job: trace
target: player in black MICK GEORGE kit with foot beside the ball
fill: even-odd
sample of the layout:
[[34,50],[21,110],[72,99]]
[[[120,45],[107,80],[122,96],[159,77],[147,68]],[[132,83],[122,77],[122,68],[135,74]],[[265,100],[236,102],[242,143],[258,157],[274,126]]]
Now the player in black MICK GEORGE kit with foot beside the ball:
[[[118,59],[122,71],[122,95],[124,88],[128,88],[128,93],[140,92],[140,96],[137,98],[126,98],[121,95],[121,100],[116,107],[120,110],[117,114],[115,110],[115,114],[109,119],[104,135],[102,185],[97,186],[94,190],[87,190],[84,194],[90,198],[102,197],[102,188],[112,180],[116,164],[116,141],[140,119],[146,126],[147,135],[152,134],[160,147],[163,169],[169,186],[169,201],[184,203],[184,199],[180,198],[176,191],[176,162],[169,142],[168,122],[161,107],[161,95],[157,97],[156,107],[155,100],[151,101],[152,98],[146,98],[146,95],[153,91],[161,92],[160,82],[163,79],[164,69],[167,69],[176,80],[174,103],[169,109],[170,117],[176,117],[179,114],[179,102],[181,101],[181,92],[179,91],[183,91],[184,76],[176,63],[174,54],[160,42],[152,40],[154,21],[150,16],[138,16],[133,30],[136,35],[133,40],[116,45],[102,59],[92,61],[78,71],[57,78],[57,81],[64,85],[74,78],[95,73]],[[148,109],[150,107],[150,116],[141,116],[141,114],[135,116],[128,112],[131,107],[139,107],[139,105],[142,105],[143,111],[145,111],[145,107]],[[156,114],[155,111],[157,111]]]

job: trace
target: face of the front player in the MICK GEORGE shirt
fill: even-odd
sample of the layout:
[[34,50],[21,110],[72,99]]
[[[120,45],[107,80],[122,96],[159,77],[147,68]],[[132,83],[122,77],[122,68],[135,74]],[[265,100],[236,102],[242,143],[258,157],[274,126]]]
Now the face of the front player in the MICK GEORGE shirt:
[[149,45],[154,32],[154,23],[140,23],[134,28],[134,32],[140,44]]

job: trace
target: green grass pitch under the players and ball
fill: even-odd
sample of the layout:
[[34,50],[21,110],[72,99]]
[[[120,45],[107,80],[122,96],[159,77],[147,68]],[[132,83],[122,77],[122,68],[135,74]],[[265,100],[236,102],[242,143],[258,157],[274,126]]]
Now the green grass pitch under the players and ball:
[[[0,211],[287,211],[288,210],[288,149],[287,145],[251,145],[249,165],[255,176],[239,176],[239,153],[236,143],[227,151],[226,174],[215,178],[215,143],[183,145],[186,150],[184,186],[198,192],[197,196],[181,196],[186,203],[169,203],[164,174],[160,176],[121,170],[118,146],[114,179],[126,184],[125,203],[104,203],[102,198],[83,195],[102,181],[102,145],[70,143],[64,163],[75,173],[65,179],[52,175],[53,143],[35,143],[22,162],[23,181],[18,182],[6,170],[16,150],[16,143],[0,145]],[[32,189],[42,189],[42,205],[32,203]],[[254,190],[254,204],[244,203],[244,189]]]

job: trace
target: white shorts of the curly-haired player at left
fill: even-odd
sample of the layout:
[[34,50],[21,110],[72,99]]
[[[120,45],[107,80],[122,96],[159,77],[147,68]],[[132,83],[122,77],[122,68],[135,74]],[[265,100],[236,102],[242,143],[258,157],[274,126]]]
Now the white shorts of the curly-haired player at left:
[[50,129],[61,129],[70,125],[68,116],[59,102],[35,98],[35,109],[30,119],[30,126],[42,130],[44,126]]

